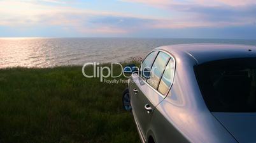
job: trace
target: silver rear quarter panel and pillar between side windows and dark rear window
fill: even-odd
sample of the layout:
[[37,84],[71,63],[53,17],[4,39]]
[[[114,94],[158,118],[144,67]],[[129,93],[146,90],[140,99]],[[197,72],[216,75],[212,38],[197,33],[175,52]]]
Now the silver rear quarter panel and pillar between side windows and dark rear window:
[[[196,65],[197,62],[190,56],[187,58],[183,56],[182,60],[177,56],[175,58],[177,62],[173,87],[171,87],[166,99],[155,109],[155,112],[159,112],[155,119],[152,118],[155,123],[150,123],[150,125],[158,128],[158,131],[155,132],[157,142],[168,142],[169,140],[173,142],[185,140],[188,142],[236,142],[211,115],[202,96],[200,96],[201,92],[198,85],[195,84],[196,77],[193,71],[193,65]],[[160,126],[155,125],[157,121],[166,122]],[[169,134],[165,135],[165,138],[159,137],[162,134],[161,130]],[[178,138],[174,139],[171,134]]]

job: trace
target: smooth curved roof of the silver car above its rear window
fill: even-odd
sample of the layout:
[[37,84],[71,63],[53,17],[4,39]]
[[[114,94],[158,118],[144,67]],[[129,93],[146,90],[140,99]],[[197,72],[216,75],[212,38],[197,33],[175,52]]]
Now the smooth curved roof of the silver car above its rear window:
[[238,44],[179,44],[157,47],[173,54],[175,58],[195,59],[197,64],[232,58],[256,57],[256,46]]

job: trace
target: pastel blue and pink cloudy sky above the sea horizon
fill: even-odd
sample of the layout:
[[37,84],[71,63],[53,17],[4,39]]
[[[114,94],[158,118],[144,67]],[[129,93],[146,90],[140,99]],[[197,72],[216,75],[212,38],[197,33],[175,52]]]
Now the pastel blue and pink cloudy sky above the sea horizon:
[[0,37],[256,39],[256,1],[0,0]]

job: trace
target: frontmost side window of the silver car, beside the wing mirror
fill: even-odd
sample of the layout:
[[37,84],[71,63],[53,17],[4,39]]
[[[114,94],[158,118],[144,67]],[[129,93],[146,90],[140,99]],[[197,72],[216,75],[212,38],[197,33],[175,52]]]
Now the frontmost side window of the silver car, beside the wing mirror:
[[146,78],[150,75],[150,69],[153,63],[153,60],[155,59],[155,56],[157,56],[158,51],[153,51],[152,53],[148,54],[144,61],[141,63],[140,67],[140,76],[146,80]]

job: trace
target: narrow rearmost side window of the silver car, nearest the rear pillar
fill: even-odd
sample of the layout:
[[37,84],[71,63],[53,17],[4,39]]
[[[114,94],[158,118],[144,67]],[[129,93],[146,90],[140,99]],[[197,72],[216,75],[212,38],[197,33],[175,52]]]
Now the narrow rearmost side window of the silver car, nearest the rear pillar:
[[174,66],[174,60],[173,58],[171,58],[166,66],[166,69],[164,70],[158,87],[158,91],[163,95],[167,94],[169,88],[171,87],[171,84],[173,84],[172,82],[174,77]]

